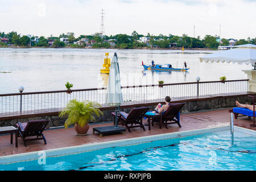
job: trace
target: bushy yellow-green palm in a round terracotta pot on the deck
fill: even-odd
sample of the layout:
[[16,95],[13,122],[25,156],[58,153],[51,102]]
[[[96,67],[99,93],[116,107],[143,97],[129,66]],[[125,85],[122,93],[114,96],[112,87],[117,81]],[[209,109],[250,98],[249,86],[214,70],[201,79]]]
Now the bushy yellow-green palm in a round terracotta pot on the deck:
[[75,125],[74,128],[77,135],[83,136],[87,135],[89,130],[88,122],[95,121],[94,116],[99,117],[103,115],[102,111],[98,108],[100,106],[97,102],[70,100],[59,116],[68,115],[68,119],[64,123],[65,129],[70,125]]

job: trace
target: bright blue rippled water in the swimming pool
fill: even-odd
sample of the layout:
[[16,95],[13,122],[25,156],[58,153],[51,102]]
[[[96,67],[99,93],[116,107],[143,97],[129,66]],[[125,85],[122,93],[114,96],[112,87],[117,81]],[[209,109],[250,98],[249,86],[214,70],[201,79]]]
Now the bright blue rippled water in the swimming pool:
[[256,170],[256,137],[229,131],[0,165],[0,170]]

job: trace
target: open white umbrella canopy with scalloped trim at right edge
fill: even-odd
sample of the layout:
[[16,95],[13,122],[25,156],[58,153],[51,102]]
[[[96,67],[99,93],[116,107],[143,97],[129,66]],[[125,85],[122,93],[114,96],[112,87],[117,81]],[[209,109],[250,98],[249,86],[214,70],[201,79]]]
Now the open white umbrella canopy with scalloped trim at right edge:
[[256,65],[256,46],[253,44],[244,44],[235,46],[236,48],[227,51],[216,52],[210,55],[200,57],[203,62],[221,62]]

